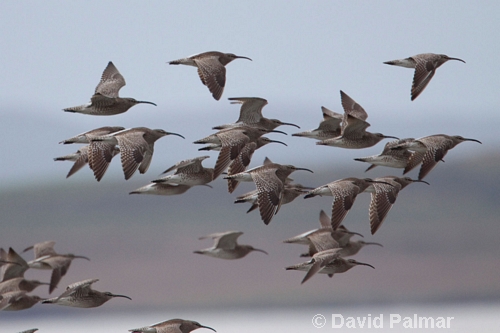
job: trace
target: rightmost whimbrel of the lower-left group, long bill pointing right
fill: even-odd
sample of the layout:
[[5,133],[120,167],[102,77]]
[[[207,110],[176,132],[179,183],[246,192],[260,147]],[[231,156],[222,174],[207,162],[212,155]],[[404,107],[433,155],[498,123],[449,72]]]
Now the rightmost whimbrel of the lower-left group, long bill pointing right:
[[49,298],[42,304],[58,304],[75,308],[95,308],[103,305],[114,297],[123,297],[132,300],[125,295],[112,294],[109,291],[101,292],[91,288],[92,284],[99,279],[88,279],[70,284],[66,291],[59,297]]

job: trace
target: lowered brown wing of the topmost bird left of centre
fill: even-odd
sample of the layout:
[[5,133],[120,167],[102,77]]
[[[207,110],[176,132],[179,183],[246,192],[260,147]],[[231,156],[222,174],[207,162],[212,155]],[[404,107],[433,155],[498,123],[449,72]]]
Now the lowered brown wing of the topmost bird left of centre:
[[201,82],[208,87],[212,96],[219,100],[226,85],[226,68],[215,55],[195,59],[195,62]]

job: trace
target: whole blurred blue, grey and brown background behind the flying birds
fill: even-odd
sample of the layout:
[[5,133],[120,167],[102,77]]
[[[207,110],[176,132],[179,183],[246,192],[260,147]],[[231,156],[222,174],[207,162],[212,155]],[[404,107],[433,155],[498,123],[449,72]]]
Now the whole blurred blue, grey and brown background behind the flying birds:
[[[388,318],[395,311],[455,316],[455,331],[493,331],[500,308],[499,13],[495,1],[0,3],[0,247],[21,253],[54,240],[57,252],[91,259],[74,260],[50,296],[98,278],[95,289],[133,299],[97,309],[38,304],[0,312],[2,332],[124,332],[175,317],[218,332],[303,332],[317,313]],[[205,51],[253,60],[227,66],[220,101],[194,68],[167,64]],[[411,102],[413,70],[383,62],[427,52],[466,64],[440,67]],[[158,106],[110,117],[63,112],[89,101],[109,61],[127,82],[120,96]],[[340,90],[367,111],[371,132],[400,138],[444,133],[483,143],[460,144],[426,177],[430,186],[407,187],[374,236],[370,196],[358,197],[344,224],[384,245],[353,257],[375,270],[355,267],[303,285],[305,273],[285,271],[305,261],[299,258],[305,248],[282,241],[317,228],[320,210],[330,214],[331,197],[298,198],[266,226],[258,212],[245,214],[248,205],[233,204],[255,188],[251,183],[233,194],[222,179],[179,196],[128,194],[180,160],[207,155],[192,142],[213,133],[212,126],[236,121],[239,106],[229,97],[265,98],[265,116],[308,130],[322,119],[321,106],[343,111]],[[58,142],[101,126],[162,128],[186,140],[158,140],[149,171],[128,181],[118,157],[101,182],[87,167],[65,179],[72,164],[53,158],[79,147]],[[353,160],[380,153],[386,141],[345,150],[292,137],[299,131],[293,127],[279,129],[289,135],[268,137],[288,147],[263,147],[251,167],[268,156],[309,168],[313,174],[291,177],[311,187],[344,177],[401,175],[384,167],[365,174],[368,165]],[[217,152],[208,155],[204,166],[212,167]],[[212,245],[198,237],[227,230],[243,231],[241,244],[269,255],[225,261],[192,253]],[[25,276],[48,282],[50,271]],[[49,296],[45,287],[32,294]]]

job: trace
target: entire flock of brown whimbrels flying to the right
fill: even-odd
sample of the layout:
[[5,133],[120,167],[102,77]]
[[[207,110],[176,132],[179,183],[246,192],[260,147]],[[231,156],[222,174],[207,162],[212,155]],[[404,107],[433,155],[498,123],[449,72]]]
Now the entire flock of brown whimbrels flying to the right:
[[[188,58],[169,62],[171,65],[189,65],[197,67],[202,83],[207,86],[215,100],[222,96],[226,82],[225,66],[235,59],[247,59],[231,53],[205,52]],[[385,64],[414,68],[411,100],[417,98],[426,88],[435,74],[436,69],[451,58],[441,54],[419,54],[401,60],[385,62]],[[95,116],[110,116],[124,113],[137,104],[152,104],[152,102],[138,101],[133,98],[119,97],[119,90],[125,85],[125,79],[112,62],[104,70],[101,80],[95,89],[90,103],[64,109],[66,112],[82,113]],[[381,133],[366,131],[370,124],[366,121],[368,114],[354,99],[340,91],[343,114],[339,114],[322,107],[323,120],[318,128],[292,134],[317,140],[317,145],[339,147],[345,149],[362,149],[372,147],[383,139],[394,139],[386,143],[379,155],[357,158],[357,161],[369,163],[369,171],[376,166],[404,169],[403,175],[421,165],[417,179],[406,176],[387,176],[380,178],[344,178],[328,184],[312,188],[294,183],[289,176],[295,171],[312,170],[299,168],[293,165],[283,165],[266,158],[263,165],[248,169],[255,150],[269,144],[286,143],[271,140],[265,137],[268,133],[285,132],[276,130],[278,126],[287,125],[300,128],[296,124],[282,122],[278,119],[269,119],[262,115],[262,109],[267,100],[256,97],[229,98],[231,103],[240,104],[240,116],[234,123],[213,127],[215,133],[195,141],[203,144],[200,151],[218,151],[219,155],[213,168],[206,168],[202,162],[209,156],[199,156],[182,160],[163,174],[152,180],[150,184],[140,187],[130,194],[179,195],[196,185],[210,186],[209,183],[219,176],[227,180],[228,192],[233,193],[242,181],[254,182],[254,191],[238,196],[235,203],[248,202],[251,204],[248,212],[259,209],[262,221],[267,225],[279,212],[284,204],[292,202],[299,196],[305,199],[315,196],[332,196],[331,217],[324,211],[320,212],[320,227],[289,238],[284,243],[295,243],[308,246],[308,251],[302,257],[310,257],[306,262],[286,267],[287,270],[305,271],[302,283],[309,280],[316,273],[334,274],[348,271],[354,266],[363,265],[374,268],[370,264],[346,259],[355,255],[366,245],[378,243],[351,240],[353,236],[361,236],[349,231],[343,220],[350,211],[358,194],[371,193],[369,205],[369,222],[371,233],[375,234],[394,205],[399,192],[414,182],[426,183],[423,178],[443,161],[448,150],[464,141],[475,139],[445,134],[431,135],[419,139],[399,139]],[[153,157],[154,143],[167,135],[182,135],[167,132],[163,129],[149,129],[136,127],[125,129],[119,126],[105,126],[96,128],[69,139],[62,144],[85,144],[73,154],[57,157],[56,161],[73,161],[74,164],[67,174],[72,176],[86,164],[100,181],[113,157],[120,155],[125,179],[130,179],[139,170],[147,172]],[[194,253],[212,256],[220,259],[239,259],[252,251],[267,254],[266,251],[256,249],[250,245],[237,243],[241,231],[219,232],[201,237],[213,239],[214,245],[210,248],[195,251]],[[121,297],[131,299],[125,295],[100,292],[91,288],[97,279],[88,279],[70,284],[58,297],[42,299],[29,295],[40,285],[49,285],[49,294],[57,287],[61,278],[66,274],[72,260],[83,258],[73,254],[58,254],[54,251],[55,242],[41,242],[24,251],[34,250],[34,259],[25,261],[14,249],[9,251],[0,249],[0,310],[22,310],[36,303],[58,304],[72,307],[97,307],[108,300]],[[27,269],[50,269],[52,275],[49,283],[24,279]],[[197,322],[172,319],[156,325],[131,329],[130,332],[147,333],[187,333],[197,328],[207,328]],[[25,332],[34,332],[36,329]],[[214,330],[215,331],[215,330]],[[23,332],[24,333],[24,332]]]

